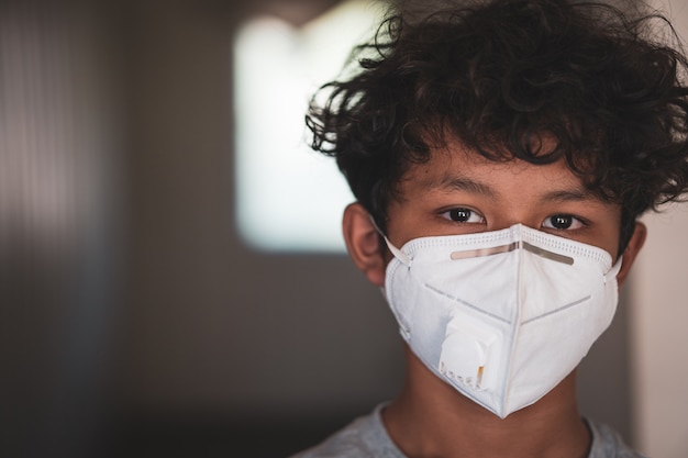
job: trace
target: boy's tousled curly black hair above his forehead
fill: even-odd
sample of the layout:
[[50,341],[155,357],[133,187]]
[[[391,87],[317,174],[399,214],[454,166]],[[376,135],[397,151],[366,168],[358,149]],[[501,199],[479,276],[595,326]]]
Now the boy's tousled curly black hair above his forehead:
[[622,253],[639,215],[688,189],[687,60],[669,22],[639,12],[566,0],[395,11],[355,48],[353,76],[313,97],[312,147],[336,157],[382,231],[401,176],[447,136],[490,160],[564,158],[621,205]]

